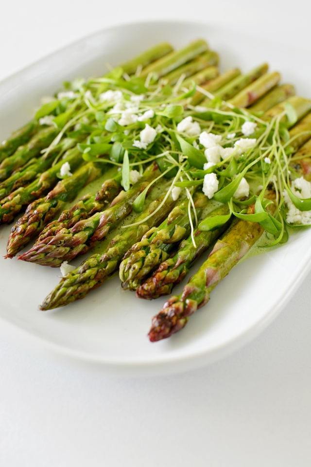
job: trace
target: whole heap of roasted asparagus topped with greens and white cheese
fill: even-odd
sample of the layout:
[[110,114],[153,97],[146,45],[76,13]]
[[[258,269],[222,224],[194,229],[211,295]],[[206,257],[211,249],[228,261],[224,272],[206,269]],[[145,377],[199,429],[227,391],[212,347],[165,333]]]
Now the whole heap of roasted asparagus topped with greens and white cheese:
[[[66,83],[2,144],[1,222],[31,203],[12,229],[7,257],[40,234],[19,259],[57,267],[92,248],[132,209],[140,214],[69,271],[41,309],[84,298],[119,266],[123,287],[139,298],[170,293],[222,234],[183,294],[155,317],[150,340],[169,337],[264,231],[275,237],[272,245],[284,242],[287,222],[302,218],[288,213],[311,211],[299,178],[311,178],[311,101],[295,96],[292,85],[279,86],[280,74],[265,63],[221,75],[217,64],[202,39],[179,51],[159,44],[101,78]],[[66,162],[73,174],[56,185]],[[120,172],[52,220],[107,164]],[[144,209],[163,177],[169,189]]]

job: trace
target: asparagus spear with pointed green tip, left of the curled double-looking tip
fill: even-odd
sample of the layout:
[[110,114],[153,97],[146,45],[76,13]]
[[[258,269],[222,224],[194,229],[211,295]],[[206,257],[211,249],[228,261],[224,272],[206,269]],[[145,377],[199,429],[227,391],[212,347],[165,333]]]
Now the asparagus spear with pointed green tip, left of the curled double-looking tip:
[[[65,306],[75,300],[82,299],[86,294],[97,287],[100,287],[118,269],[122,257],[134,243],[137,243],[143,234],[148,232],[153,226],[158,225],[163,217],[167,216],[173,208],[175,201],[170,195],[166,203],[157,212],[155,210],[163,201],[164,196],[153,201],[145,209],[137,221],[146,219],[139,226],[128,227],[122,234],[116,235],[104,254],[93,254],[87,258],[77,269],[69,272],[54,290],[46,297],[41,310],[50,310],[58,306]],[[150,214],[154,216],[147,218]]]

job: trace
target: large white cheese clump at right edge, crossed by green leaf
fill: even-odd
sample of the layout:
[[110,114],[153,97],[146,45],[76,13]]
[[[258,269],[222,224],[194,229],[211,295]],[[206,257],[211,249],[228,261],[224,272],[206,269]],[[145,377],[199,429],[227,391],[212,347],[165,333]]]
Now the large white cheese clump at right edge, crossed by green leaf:
[[[300,199],[311,198],[311,183],[300,177],[292,182],[292,192]],[[289,224],[311,224],[311,211],[299,211],[286,190],[283,191],[283,196],[288,207],[286,221]]]

